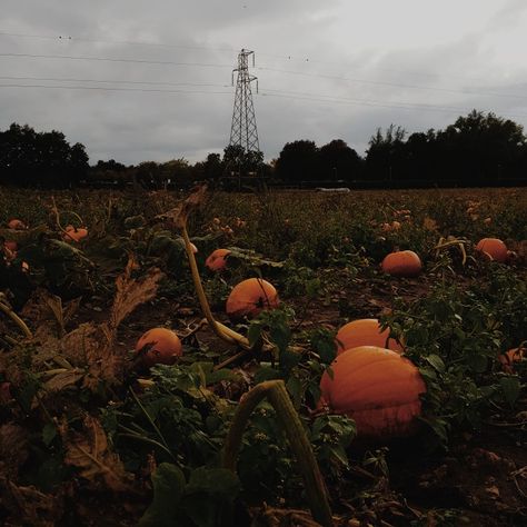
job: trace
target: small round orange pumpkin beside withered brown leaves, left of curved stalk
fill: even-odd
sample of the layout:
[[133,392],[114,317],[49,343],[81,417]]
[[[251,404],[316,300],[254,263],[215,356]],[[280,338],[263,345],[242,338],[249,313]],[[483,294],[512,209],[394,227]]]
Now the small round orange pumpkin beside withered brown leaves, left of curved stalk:
[[137,341],[136,355],[147,367],[157,364],[172,365],[182,355],[181,341],[170,329],[153,328]]

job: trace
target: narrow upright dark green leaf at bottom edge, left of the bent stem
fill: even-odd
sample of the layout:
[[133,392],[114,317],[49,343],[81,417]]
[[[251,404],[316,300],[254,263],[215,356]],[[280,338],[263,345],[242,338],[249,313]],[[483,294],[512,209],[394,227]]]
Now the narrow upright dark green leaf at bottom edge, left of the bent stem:
[[176,466],[162,463],[152,474],[153,499],[138,527],[172,527],[185,489],[185,475]]

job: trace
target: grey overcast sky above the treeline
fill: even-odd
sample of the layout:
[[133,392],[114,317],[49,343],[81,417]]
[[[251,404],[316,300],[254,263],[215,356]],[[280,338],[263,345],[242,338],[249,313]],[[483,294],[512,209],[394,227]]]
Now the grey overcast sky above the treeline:
[[0,3],[0,130],[60,130],[92,165],[222,152],[242,48],[266,160],[297,139],[364,155],[378,127],[473,108],[527,128],[527,0]]

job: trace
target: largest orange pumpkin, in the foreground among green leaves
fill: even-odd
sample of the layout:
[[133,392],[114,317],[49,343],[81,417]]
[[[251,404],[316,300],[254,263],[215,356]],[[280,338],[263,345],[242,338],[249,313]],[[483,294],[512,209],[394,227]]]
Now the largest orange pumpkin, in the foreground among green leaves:
[[405,437],[417,428],[419,396],[426,391],[419,370],[385,348],[360,346],[340,354],[320,380],[319,406],[351,417],[357,436]]

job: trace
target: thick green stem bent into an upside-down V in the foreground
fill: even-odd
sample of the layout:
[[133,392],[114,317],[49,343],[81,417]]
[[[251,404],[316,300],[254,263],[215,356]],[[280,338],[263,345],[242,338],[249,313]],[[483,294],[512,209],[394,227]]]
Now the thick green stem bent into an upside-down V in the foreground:
[[268,380],[251,388],[241,398],[232,424],[225,440],[221,453],[223,468],[236,471],[236,461],[240,449],[243,431],[249,417],[264,399],[268,398],[278,420],[286,432],[289,446],[297,459],[298,468],[304,477],[309,508],[312,517],[324,527],[331,527],[331,509],[329,507],[326,485],[315,454],[282,380]]

